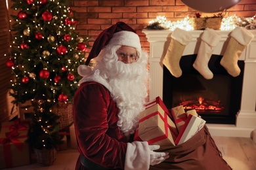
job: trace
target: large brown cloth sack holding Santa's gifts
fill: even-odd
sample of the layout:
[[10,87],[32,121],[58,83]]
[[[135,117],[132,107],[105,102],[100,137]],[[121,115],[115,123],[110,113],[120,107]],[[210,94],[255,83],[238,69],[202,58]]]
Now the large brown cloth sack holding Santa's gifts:
[[158,165],[150,166],[150,170],[185,169],[185,170],[230,170],[223,159],[207,126],[185,143],[177,146],[161,147],[161,152],[169,152],[169,158]]

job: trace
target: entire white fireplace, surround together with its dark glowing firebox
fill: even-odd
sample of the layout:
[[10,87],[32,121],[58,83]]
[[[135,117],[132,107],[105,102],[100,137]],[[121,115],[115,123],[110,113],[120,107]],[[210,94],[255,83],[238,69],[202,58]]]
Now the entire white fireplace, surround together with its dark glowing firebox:
[[[253,129],[256,129],[256,30],[250,31],[255,35],[255,37],[245,48],[244,52],[240,56],[240,60],[238,61],[242,70],[240,76],[233,78],[225,73],[226,71],[224,71],[223,68],[217,68],[216,70],[211,68],[211,71],[214,73],[214,80],[218,79],[219,81],[227,81],[225,84],[234,84],[234,82],[236,82],[238,86],[225,85],[226,87],[224,87],[219,84],[215,87],[215,89],[220,89],[217,93],[214,92],[214,90],[209,90],[208,93],[211,93],[211,96],[214,96],[212,93],[215,95],[223,93],[223,97],[220,99],[203,96],[205,95],[203,93],[198,94],[198,96],[192,99],[191,97],[188,97],[190,96],[190,93],[192,93],[189,92],[192,86],[194,86],[194,91],[196,91],[198,90],[196,88],[205,88],[207,83],[210,82],[206,79],[203,80],[203,77],[199,73],[196,73],[196,70],[191,70],[191,62],[196,58],[196,54],[198,54],[200,36],[203,31],[189,31],[192,35],[192,41],[186,45],[182,54],[182,76],[180,77],[187,81],[186,84],[188,84],[188,86],[186,87],[189,88],[185,87],[188,92],[181,93],[181,90],[179,89],[175,89],[176,92],[165,92],[164,90],[165,87],[170,88],[170,84],[179,83],[179,80],[182,80],[171,77],[171,73],[169,73],[161,63],[171,40],[171,31],[142,30],[142,32],[146,34],[148,42],[150,42],[150,100],[160,96],[169,109],[171,107],[175,107],[175,105],[180,105],[182,102],[186,102],[186,104],[194,102],[194,105],[198,106],[197,111],[202,109],[202,105],[201,107],[198,105],[200,102],[207,102],[207,105],[209,105],[209,103],[217,102],[219,103],[217,105],[221,110],[216,109],[213,111],[208,109],[204,111],[201,110],[202,112],[200,112],[200,115],[203,115],[202,117],[207,121],[207,127],[211,134],[219,136],[251,137]],[[218,32],[221,34],[221,41],[213,51],[213,56],[211,57],[211,59],[215,60],[215,63],[218,63],[220,58],[223,56],[230,37],[230,31]],[[183,60],[188,61],[188,65],[190,66],[186,68],[186,64],[182,64]],[[189,75],[191,73],[194,74],[192,77]],[[164,76],[168,76],[168,78],[165,79]],[[188,78],[189,76],[190,78]],[[184,83],[182,85],[185,86]],[[180,84],[179,86],[181,87],[182,85]],[[226,88],[226,90],[221,91],[222,88]],[[198,92],[202,92],[202,90]],[[175,93],[175,97],[173,97],[173,93]],[[225,97],[228,97],[228,99]],[[235,99],[235,101],[228,101],[232,99]],[[184,103],[182,103],[182,105],[183,104]],[[205,105],[205,103],[203,105]],[[190,107],[187,109],[190,109]],[[214,114],[218,114],[219,117],[213,118]],[[217,121],[214,119],[219,119],[219,123],[216,123]]]

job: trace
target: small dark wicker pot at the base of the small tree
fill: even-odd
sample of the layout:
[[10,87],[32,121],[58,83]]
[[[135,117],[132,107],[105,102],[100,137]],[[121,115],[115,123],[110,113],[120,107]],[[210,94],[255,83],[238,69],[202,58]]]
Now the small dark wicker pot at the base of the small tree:
[[35,152],[35,158],[37,163],[41,166],[53,165],[53,162],[56,160],[56,149],[33,149]]

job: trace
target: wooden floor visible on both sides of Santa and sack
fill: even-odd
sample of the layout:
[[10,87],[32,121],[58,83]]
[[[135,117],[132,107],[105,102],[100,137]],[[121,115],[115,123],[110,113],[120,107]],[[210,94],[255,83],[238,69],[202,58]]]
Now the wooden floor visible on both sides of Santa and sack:
[[[224,160],[234,170],[256,170],[256,144],[250,138],[213,137],[213,139],[219,150],[221,150]],[[75,149],[62,150],[57,152],[56,161],[51,166],[42,167],[37,165],[37,163],[32,163],[31,165],[9,168],[7,170],[72,170],[75,169],[78,156],[79,154]]]

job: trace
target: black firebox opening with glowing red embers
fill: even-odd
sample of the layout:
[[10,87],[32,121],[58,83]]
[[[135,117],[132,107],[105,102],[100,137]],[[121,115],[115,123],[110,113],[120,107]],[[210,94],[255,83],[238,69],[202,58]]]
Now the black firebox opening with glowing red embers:
[[196,54],[182,56],[182,76],[176,78],[163,66],[163,102],[169,109],[182,105],[185,110],[196,109],[207,123],[235,124],[240,110],[244,61],[238,61],[241,73],[237,77],[228,75],[220,65],[222,56],[213,55],[209,69],[213,78],[203,78],[192,64]]

